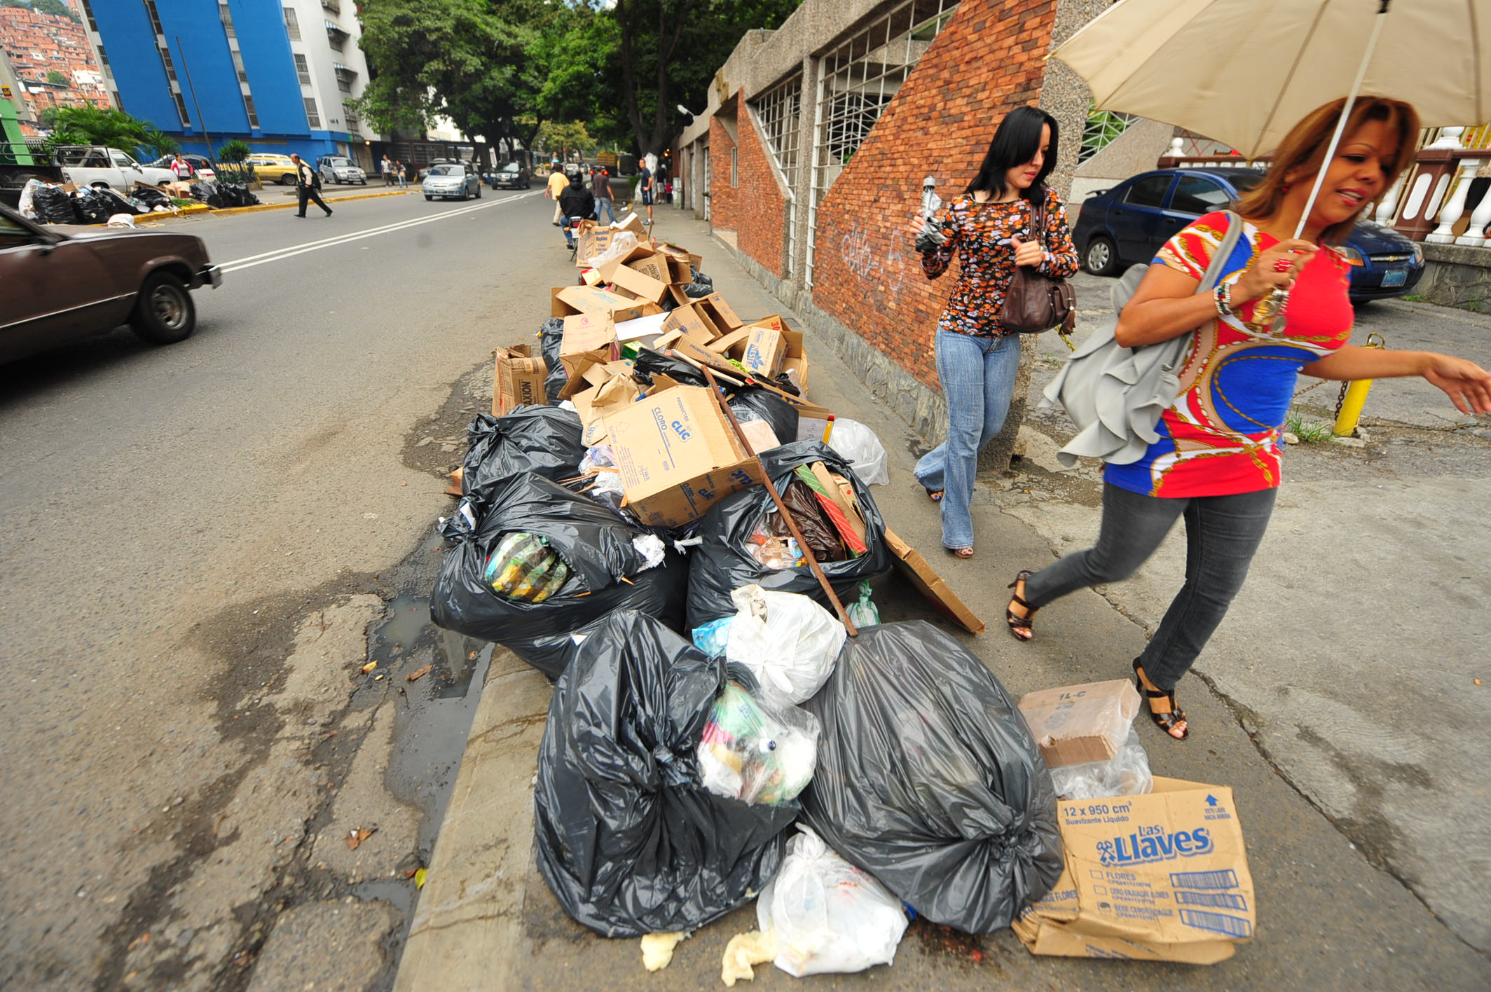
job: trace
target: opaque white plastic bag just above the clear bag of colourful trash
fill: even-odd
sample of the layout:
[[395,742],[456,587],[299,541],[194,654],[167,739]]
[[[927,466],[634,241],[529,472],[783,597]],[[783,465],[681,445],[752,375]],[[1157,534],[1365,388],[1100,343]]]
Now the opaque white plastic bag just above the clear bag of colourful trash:
[[789,703],[813,698],[833,673],[844,625],[796,592],[748,585],[732,592],[731,601],[737,613],[725,659],[750,668],[762,686]]

